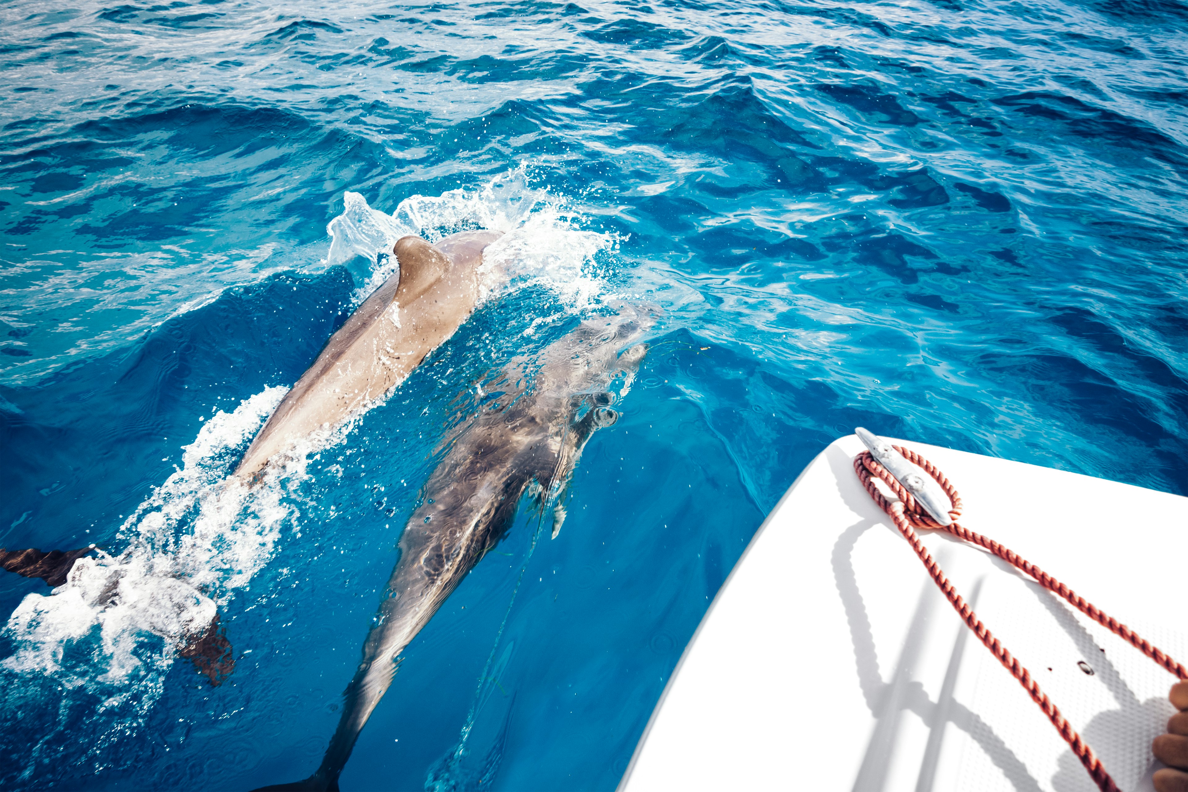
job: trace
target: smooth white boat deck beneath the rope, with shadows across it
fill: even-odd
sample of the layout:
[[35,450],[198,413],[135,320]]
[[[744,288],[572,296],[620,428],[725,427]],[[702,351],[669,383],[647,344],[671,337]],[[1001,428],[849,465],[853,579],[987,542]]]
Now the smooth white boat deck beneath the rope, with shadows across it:
[[[1188,499],[898,444],[944,470],[963,525],[1188,664]],[[835,441],[767,517],[685,648],[620,791],[1097,790],[858,483],[851,460],[861,450],[854,436]],[[1119,786],[1150,790],[1171,674],[988,553],[940,532],[924,540]]]

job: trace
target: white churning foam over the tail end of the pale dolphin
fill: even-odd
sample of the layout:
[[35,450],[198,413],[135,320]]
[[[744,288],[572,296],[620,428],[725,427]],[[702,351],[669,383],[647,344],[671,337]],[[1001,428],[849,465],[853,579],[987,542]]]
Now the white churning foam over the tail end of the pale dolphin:
[[[185,446],[183,467],[121,526],[120,555],[78,559],[51,594],[27,595],[6,626],[17,648],[4,667],[69,686],[152,683],[159,691],[176,648],[207,631],[219,606],[273,556],[285,525],[297,525],[293,476],[251,490],[227,476],[285,392],[266,388],[211,417]],[[75,642],[94,636],[91,663],[64,661]]]

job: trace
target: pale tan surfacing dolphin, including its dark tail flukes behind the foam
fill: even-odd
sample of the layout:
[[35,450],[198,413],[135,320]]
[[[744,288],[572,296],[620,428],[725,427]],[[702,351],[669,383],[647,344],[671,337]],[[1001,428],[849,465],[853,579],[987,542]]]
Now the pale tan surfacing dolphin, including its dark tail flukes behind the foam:
[[[392,248],[399,271],[377,289],[333,335],[253,439],[230,481],[260,481],[267,463],[303,442],[328,435],[400,384],[425,355],[449,338],[482,298],[486,283],[482,252],[499,232],[463,232],[436,245],[404,236]],[[491,273],[498,278],[501,273]],[[0,568],[25,577],[40,577],[57,588],[78,565],[106,568],[112,558],[93,558],[95,546],[43,552],[0,547]],[[116,564],[108,583],[88,591],[88,603],[103,608],[143,595],[122,581]],[[177,600],[178,613],[198,603],[198,620],[163,625],[158,632],[176,644],[178,657],[219,685],[234,670],[226,628],[214,603],[182,579],[165,587]],[[192,622],[192,623],[191,623]]]

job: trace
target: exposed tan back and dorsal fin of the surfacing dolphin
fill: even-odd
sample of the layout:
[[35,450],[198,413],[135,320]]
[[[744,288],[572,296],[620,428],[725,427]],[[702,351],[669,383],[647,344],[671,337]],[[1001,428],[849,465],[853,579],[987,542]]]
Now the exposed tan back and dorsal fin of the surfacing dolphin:
[[482,252],[501,235],[462,232],[436,245],[400,237],[392,248],[399,272],[330,336],[252,441],[235,477],[258,482],[271,460],[329,435],[404,381],[479,304]]

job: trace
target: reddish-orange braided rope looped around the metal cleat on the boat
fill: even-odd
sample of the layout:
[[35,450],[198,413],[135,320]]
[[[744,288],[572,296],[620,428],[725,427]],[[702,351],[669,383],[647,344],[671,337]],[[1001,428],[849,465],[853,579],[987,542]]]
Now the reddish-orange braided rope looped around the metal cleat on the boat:
[[[933,559],[931,553],[928,552],[928,547],[925,547],[924,543],[920,540],[920,537],[916,534],[916,528],[936,528],[948,531],[960,539],[988,550],[1003,560],[1012,564],[1020,571],[1035,578],[1035,581],[1045,589],[1059,594],[1061,597],[1072,603],[1078,610],[1089,616],[1098,623],[1107,627],[1116,635],[1130,642],[1131,646],[1155,660],[1171,673],[1176,674],[1180,679],[1188,679],[1188,669],[1184,669],[1184,666],[1161,652],[1158,648],[1152,646],[1150,641],[1144,640],[1135,633],[1135,631],[1126,627],[1126,625],[1123,625],[1113,616],[1104,613],[1092,602],[1082,596],[1079,596],[1067,585],[1054,578],[1048,572],[1044,572],[1031,562],[1022,558],[1018,553],[1004,547],[997,541],[987,539],[980,533],[974,533],[973,531],[961,526],[956,522],[956,519],[961,517],[961,496],[958,494],[956,487],[949,482],[949,480],[936,468],[936,465],[915,451],[910,451],[898,445],[892,448],[902,454],[909,462],[922,468],[936,481],[936,483],[941,486],[942,489],[944,489],[944,493],[949,496],[949,500],[953,503],[953,508],[949,511],[949,515],[954,520],[953,524],[941,525],[929,517],[928,512],[925,512],[924,508],[916,502],[916,499],[911,496],[911,493],[904,489],[899,482],[896,481],[895,476],[887,473],[886,468],[874,461],[874,457],[871,456],[870,451],[862,451],[854,457],[854,473],[858,474],[859,481],[862,482],[866,492],[870,493],[874,502],[879,505],[879,508],[886,512],[895,521],[896,527],[899,528],[899,533],[903,534],[903,538],[906,539],[916,551],[920,560],[924,563],[924,566],[933,576],[933,581],[935,581],[936,585],[939,585],[941,591],[944,593],[946,598],[948,598],[953,608],[961,614],[961,619],[969,626],[969,629],[972,629],[974,634],[981,639],[981,642],[986,645],[986,648],[990,650],[996,658],[998,658],[998,661],[1001,663],[1003,666],[1019,680],[1019,684],[1023,685],[1023,688],[1031,696],[1031,701],[1040,705],[1040,709],[1042,709],[1044,715],[1048,716],[1051,724],[1056,727],[1057,731],[1060,731],[1060,736],[1068,742],[1073,753],[1081,760],[1081,764],[1085,765],[1085,769],[1088,771],[1089,777],[1098,785],[1101,792],[1118,792],[1118,786],[1114,784],[1113,779],[1110,778],[1110,774],[1101,765],[1101,760],[1093,753],[1093,749],[1089,748],[1083,740],[1081,740],[1081,735],[1079,735],[1068,720],[1061,715],[1060,709],[1042,690],[1040,690],[1040,685],[1031,678],[1031,673],[1026,670],[1026,667],[1024,667],[1015,655],[1006,651],[1006,647],[1003,646],[1001,641],[994,638],[994,634],[991,633],[984,623],[981,623],[980,619],[978,619],[973,608],[971,608],[966,601],[961,598],[961,595],[956,593],[953,583],[949,582],[949,578],[944,576],[940,565],[935,559]],[[895,493],[899,500],[892,501],[884,496],[874,483],[876,477],[890,487],[891,492]]]

